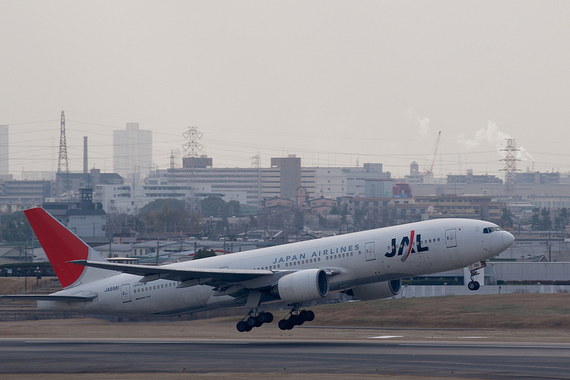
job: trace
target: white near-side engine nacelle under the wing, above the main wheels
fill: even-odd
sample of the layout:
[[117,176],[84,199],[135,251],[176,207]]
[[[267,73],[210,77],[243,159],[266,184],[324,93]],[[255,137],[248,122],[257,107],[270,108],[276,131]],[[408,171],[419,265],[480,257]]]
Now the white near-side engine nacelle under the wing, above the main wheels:
[[318,300],[328,295],[328,277],[322,269],[299,270],[279,278],[271,294],[288,303]]

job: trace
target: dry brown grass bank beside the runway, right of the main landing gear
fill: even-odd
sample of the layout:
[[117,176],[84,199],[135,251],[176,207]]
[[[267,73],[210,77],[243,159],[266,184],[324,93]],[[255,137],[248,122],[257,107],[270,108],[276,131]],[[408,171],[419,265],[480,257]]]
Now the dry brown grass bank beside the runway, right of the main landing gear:
[[520,293],[400,298],[314,308],[326,326],[570,329],[570,295]]

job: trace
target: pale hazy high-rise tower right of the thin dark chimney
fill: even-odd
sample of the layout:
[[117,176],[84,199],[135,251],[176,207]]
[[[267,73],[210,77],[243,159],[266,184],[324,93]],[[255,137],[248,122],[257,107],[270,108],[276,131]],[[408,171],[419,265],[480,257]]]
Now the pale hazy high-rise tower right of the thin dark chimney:
[[125,179],[140,181],[152,169],[152,131],[128,122],[126,130],[113,131],[113,171]]

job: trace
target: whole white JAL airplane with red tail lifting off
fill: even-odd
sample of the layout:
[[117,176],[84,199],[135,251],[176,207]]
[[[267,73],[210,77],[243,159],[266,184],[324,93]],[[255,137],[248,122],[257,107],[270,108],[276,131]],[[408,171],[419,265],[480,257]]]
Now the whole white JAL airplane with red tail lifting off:
[[246,307],[239,332],[270,323],[264,302],[287,302],[282,330],[314,320],[302,304],[329,292],[358,300],[398,295],[402,279],[471,269],[509,248],[514,236],[487,221],[445,218],[348,233],[166,265],[109,263],[41,208],[24,211],[63,290],[4,295],[36,300],[39,309],[105,315],[172,316]]

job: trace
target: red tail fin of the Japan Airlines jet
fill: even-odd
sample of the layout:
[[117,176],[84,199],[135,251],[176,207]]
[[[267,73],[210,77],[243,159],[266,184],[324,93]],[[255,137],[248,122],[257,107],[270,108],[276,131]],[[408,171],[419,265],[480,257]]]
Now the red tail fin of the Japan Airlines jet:
[[85,267],[66,263],[70,260],[87,260],[89,246],[59,223],[43,209],[24,211],[33,232],[48,256],[61,286],[68,287],[80,278]]

